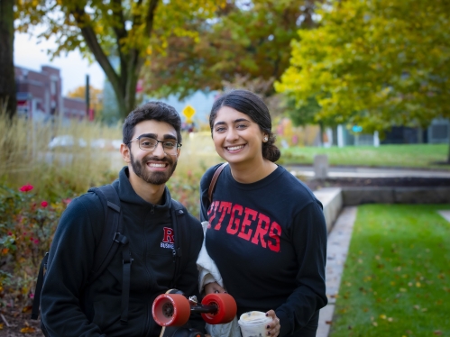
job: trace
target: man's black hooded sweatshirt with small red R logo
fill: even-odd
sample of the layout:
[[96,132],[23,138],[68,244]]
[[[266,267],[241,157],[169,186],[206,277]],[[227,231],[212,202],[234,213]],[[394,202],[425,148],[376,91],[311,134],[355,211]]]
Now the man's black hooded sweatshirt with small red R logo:
[[[120,323],[121,249],[106,271],[86,286],[96,243],[106,225],[99,198],[87,193],[69,204],[51,244],[41,295],[41,320],[51,336],[156,337],[161,332],[152,318],[152,302],[169,289],[175,273],[170,193],[166,187],[163,205],[152,205],[134,192],[127,176],[128,168],[123,168],[113,186],[120,197],[124,235],[133,259],[128,324]],[[203,231],[195,217],[183,216],[188,216],[186,223],[191,227],[190,244],[183,249],[190,259],[187,265],[180,266],[182,276],[176,287],[187,296],[198,296],[196,260]],[[192,323],[204,331],[201,319]]]

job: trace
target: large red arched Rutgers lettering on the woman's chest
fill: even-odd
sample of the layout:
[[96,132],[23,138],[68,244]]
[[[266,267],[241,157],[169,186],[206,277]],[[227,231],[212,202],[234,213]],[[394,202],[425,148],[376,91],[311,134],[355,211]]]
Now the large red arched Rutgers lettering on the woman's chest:
[[[261,245],[262,248],[280,251],[281,226],[265,214],[243,205],[214,201],[207,210],[207,216],[211,228],[216,231],[224,226],[225,232],[230,235],[237,235],[243,240]],[[216,222],[215,225],[213,221]]]

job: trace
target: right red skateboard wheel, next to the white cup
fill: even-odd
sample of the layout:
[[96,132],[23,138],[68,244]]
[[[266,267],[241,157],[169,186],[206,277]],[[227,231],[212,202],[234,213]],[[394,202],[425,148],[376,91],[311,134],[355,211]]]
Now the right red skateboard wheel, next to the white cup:
[[202,300],[202,305],[216,305],[214,314],[201,314],[203,320],[209,324],[224,324],[233,321],[237,312],[237,305],[230,294],[209,294]]

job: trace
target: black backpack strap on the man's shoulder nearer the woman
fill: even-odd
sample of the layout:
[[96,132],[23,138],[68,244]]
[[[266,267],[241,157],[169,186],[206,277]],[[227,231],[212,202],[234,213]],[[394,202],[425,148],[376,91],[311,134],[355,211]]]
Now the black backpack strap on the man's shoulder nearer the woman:
[[180,269],[188,260],[188,253],[183,254],[183,249],[189,246],[189,232],[187,224],[188,210],[177,200],[172,199],[170,205],[170,220],[174,232],[175,242],[172,250],[173,260],[175,262],[174,275],[170,287],[176,287],[180,276]]

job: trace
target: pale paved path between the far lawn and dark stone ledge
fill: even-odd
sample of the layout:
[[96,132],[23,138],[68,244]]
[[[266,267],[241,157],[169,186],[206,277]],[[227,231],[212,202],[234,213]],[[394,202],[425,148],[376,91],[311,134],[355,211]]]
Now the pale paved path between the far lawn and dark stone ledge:
[[[295,176],[314,177],[314,167],[286,165]],[[329,178],[450,178],[450,170],[412,168],[328,168]]]

